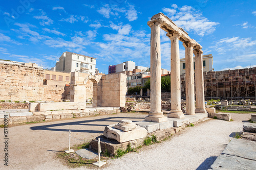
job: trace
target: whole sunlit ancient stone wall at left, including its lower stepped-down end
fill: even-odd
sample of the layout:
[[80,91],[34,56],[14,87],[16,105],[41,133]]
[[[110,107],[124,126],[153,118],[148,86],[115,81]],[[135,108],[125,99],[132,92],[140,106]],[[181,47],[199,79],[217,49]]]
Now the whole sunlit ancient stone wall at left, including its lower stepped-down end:
[[43,84],[43,69],[0,64],[0,100],[57,102],[69,99],[69,87]]

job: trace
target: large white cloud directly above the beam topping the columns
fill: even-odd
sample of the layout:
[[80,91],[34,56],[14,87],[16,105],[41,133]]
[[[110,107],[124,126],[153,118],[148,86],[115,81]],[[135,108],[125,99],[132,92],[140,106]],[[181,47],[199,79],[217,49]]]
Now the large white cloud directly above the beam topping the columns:
[[200,11],[190,6],[178,8],[177,5],[172,5],[173,8],[163,8],[167,16],[172,19],[178,27],[185,31],[193,32],[200,36],[211,34],[215,31],[219,22],[209,21]]

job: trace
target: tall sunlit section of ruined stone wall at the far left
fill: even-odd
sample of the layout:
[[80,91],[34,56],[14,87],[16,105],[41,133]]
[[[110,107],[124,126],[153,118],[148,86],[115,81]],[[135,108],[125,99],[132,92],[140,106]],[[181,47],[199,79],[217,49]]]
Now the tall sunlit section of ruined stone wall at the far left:
[[44,70],[0,64],[0,100],[35,101],[44,98]]

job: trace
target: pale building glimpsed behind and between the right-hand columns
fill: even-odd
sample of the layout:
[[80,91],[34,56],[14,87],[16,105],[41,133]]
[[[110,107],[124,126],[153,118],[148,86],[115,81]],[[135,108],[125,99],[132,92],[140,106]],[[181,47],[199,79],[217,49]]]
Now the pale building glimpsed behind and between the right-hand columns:
[[[213,57],[211,54],[208,55],[203,55],[203,71],[208,72],[212,71],[212,64],[213,64]],[[180,74],[185,74],[185,69],[186,64],[185,64],[185,58],[180,59]],[[195,57],[194,57],[194,69],[195,69]]]

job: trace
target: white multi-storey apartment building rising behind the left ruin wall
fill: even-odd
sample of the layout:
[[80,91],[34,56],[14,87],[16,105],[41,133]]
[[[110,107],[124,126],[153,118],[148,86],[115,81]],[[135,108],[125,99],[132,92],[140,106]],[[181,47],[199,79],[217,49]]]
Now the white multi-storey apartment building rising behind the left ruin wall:
[[56,71],[85,72],[95,75],[96,58],[81,54],[65,52],[56,63]]

